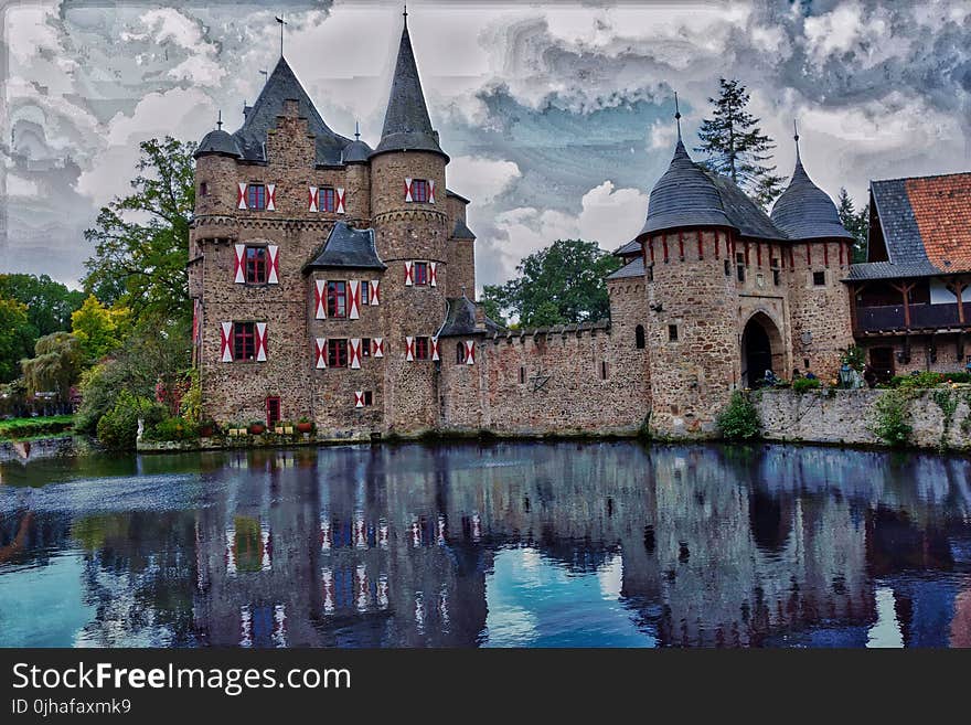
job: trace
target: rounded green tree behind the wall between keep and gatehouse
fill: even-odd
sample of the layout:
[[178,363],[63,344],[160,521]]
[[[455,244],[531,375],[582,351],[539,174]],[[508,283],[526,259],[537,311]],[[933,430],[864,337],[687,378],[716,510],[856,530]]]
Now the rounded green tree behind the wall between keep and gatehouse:
[[[596,242],[556,239],[525,257],[519,276],[505,285],[487,285],[487,313],[491,309],[519,318],[523,327],[549,327],[599,320],[610,314],[604,278],[620,267],[620,259]],[[490,317],[492,317],[490,314]],[[494,318],[493,318],[494,319]]]

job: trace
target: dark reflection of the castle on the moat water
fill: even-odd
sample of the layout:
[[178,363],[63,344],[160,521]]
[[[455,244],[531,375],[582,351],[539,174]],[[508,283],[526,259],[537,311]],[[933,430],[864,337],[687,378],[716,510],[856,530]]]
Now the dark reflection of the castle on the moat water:
[[948,643],[919,619],[968,608],[957,584],[898,576],[953,568],[956,532],[967,551],[961,461],[627,444],[213,460],[193,601],[211,644],[473,646],[506,546],[574,572],[619,553],[620,597],[664,644],[862,644],[895,577],[908,643]]

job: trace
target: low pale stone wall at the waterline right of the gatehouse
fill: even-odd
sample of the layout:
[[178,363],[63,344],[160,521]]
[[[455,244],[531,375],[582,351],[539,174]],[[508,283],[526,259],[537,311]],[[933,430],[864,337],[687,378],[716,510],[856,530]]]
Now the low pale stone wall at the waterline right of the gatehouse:
[[[766,391],[755,396],[762,422],[762,436],[769,440],[883,445],[871,431],[875,405],[887,391]],[[957,408],[946,426],[947,416],[935,395],[948,394]],[[971,449],[971,391],[924,391],[908,405],[910,441],[920,448],[939,448],[941,443],[956,450]],[[965,422],[968,422],[965,424]],[[947,427],[947,434],[945,428]]]

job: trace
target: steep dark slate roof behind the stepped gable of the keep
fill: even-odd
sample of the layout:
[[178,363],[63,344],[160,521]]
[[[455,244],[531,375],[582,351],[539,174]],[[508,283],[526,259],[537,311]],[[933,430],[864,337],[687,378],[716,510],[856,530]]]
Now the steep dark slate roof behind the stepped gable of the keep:
[[351,139],[335,134],[323,122],[310,96],[282,56],[267,78],[256,103],[246,113],[243,127],[233,134],[243,157],[250,161],[266,161],[267,131],[276,128],[277,117],[284,113],[285,100],[296,100],[300,116],[307,119],[308,131],[313,134],[317,145],[317,163],[341,164],[341,152],[351,143]]

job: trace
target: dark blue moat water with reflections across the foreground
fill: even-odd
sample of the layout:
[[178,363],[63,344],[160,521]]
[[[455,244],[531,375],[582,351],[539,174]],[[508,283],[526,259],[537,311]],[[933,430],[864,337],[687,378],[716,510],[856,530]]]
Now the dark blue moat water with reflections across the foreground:
[[3,647],[971,647],[971,461],[633,443],[0,465]]

